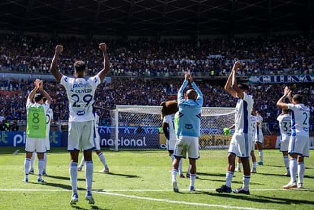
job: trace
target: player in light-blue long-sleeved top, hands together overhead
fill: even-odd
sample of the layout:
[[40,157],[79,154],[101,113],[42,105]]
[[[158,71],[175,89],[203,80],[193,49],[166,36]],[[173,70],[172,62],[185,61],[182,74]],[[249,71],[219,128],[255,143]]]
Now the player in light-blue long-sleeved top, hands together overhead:
[[[174,192],[179,192],[177,173],[181,158],[186,158],[188,153],[190,164],[189,191],[195,191],[196,160],[199,156],[198,138],[201,133],[201,112],[203,94],[195,84],[192,75],[185,73],[185,80],[178,91],[179,111],[175,115],[175,129],[177,141],[174,150],[175,159],[172,163],[172,187]],[[184,94],[184,90],[190,82],[193,89]]]

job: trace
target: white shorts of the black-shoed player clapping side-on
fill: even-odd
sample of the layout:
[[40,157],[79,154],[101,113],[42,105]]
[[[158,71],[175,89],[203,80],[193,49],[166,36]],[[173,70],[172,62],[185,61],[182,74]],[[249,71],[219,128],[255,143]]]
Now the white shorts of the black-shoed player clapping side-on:
[[252,150],[252,138],[247,133],[234,133],[231,138],[228,153],[238,157],[249,157]]

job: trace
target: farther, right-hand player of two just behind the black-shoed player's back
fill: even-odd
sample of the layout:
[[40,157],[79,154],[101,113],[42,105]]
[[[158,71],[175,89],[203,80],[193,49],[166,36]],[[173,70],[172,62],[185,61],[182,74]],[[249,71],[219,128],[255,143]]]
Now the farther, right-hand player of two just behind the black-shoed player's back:
[[258,111],[256,111],[256,134],[255,134],[255,144],[257,146],[257,149],[259,150],[259,157],[260,161],[258,162],[259,165],[263,165],[263,143],[264,143],[264,135],[262,132],[262,125],[263,125],[263,118],[259,114]]

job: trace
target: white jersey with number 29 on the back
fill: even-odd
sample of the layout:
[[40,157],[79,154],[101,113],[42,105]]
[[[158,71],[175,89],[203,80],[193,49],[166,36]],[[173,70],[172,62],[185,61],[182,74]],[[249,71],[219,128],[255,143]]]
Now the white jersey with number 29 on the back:
[[60,83],[67,91],[69,122],[93,121],[95,119],[93,113],[95,90],[101,83],[99,76],[70,78],[63,75]]

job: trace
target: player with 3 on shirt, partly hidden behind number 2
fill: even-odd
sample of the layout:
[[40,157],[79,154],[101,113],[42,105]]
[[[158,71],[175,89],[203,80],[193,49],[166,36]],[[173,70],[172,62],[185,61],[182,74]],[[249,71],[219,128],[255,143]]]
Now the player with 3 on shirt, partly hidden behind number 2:
[[291,137],[291,115],[289,115],[288,109],[282,109],[281,114],[278,115],[277,121],[280,129],[280,150],[283,153],[284,164],[287,172],[285,176],[290,177],[290,166],[288,158],[288,148]]

